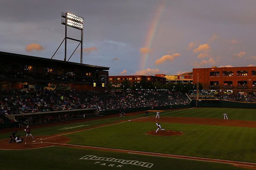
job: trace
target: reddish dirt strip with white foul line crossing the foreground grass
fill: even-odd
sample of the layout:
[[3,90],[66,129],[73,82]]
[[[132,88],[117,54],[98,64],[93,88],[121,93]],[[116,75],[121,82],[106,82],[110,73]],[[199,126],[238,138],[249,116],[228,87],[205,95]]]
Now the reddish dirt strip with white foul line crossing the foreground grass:
[[[51,143],[51,142],[44,142],[44,143]],[[78,147],[84,147],[84,148],[87,148],[87,149],[123,151],[124,153],[138,154],[138,155],[148,155],[148,156],[157,156],[157,157],[166,157],[166,158],[179,158],[179,159],[188,159],[188,160],[196,160],[196,161],[205,161],[205,162],[215,162],[215,163],[224,163],[224,164],[256,167],[255,163],[250,163],[250,162],[239,162],[239,161],[212,159],[212,158],[190,157],[190,156],[171,155],[171,154],[153,153],[153,152],[129,151],[129,150],[122,150],[122,149],[110,149],[110,148],[101,148],[101,147],[94,147],[94,146],[82,146],[82,145],[73,145],[73,144],[65,144],[65,143],[51,143],[51,144],[67,145],[67,146],[78,146]],[[246,165],[246,164],[250,164],[250,165]]]

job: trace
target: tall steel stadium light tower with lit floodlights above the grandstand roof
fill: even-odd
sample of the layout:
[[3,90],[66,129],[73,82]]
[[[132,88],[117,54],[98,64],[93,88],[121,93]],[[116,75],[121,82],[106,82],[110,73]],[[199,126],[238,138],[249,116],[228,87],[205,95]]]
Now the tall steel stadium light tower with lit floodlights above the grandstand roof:
[[[62,40],[61,44],[63,43],[63,41],[65,40],[65,58],[64,61],[67,61],[67,39],[73,40],[73,41],[78,41],[80,42],[76,49],[78,48],[78,46],[81,44],[81,59],[80,59],[80,63],[83,64],[83,30],[84,30],[84,18],[83,17],[79,17],[73,13],[70,12],[61,12],[61,17],[65,18],[65,19],[61,19],[61,24],[65,25],[65,38]],[[70,38],[67,37],[67,26],[69,27],[73,27],[76,29],[81,30],[81,40],[76,40],[74,38]],[[60,46],[58,47],[58,49],[60,48]],[[55,53],[58,51],[58,49],[55,51]],[[76,49],[74,50],[74,52],[76,51]],[[74,52],[71,54],[71,56],[68,58],[68,60],[72,57],[72,55],[74,54]],[[55,55],[55,53],[53,54],[53,56]],[[53,58],[52,56],[52,58]],[[51,59],[52,59],[51,58]]]

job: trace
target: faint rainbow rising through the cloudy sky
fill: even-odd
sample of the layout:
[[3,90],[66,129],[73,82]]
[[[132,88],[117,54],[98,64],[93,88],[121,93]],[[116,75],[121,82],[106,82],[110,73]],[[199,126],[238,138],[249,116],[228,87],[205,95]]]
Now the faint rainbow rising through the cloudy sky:
[[[166,4],[166,0],[161,0],[156,8],[156,13],[152,21],[150,22],[148,32],[146,34],[145,43],[143,48],[148,47],[151,49],[153,40],[155,38],[156,30],[160,21],[160,18],[164,11],[164,6]],[[141,54],[141,61],[140,61],[140,70],[146,69],[146,64],[148,61],[148,53]]]

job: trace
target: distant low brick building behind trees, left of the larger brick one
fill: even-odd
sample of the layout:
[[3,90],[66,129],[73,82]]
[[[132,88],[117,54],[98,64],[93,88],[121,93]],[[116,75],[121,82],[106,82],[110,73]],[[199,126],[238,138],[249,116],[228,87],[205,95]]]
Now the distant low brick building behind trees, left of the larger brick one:
[[108,76],[109,82],[122,82],[124,80],[129,80],[130,82],[140,82],[141,80],[151,81],[152,83],[158,81],[161,85],[164,85],[166,78],[152,76],[152,75],[120,75],[120,76]]

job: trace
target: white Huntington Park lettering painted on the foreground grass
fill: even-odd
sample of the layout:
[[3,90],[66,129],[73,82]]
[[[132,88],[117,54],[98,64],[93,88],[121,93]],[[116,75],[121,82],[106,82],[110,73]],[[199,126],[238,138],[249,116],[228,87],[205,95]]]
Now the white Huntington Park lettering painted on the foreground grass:
[[[103,157],[97,157],[93,155],[86,155],[80,159],[89,159],[89,160],[97,160],[94,164],[100,164],[102,166],[106,166],[106,163],[101,163],[99,161],[109,161],[109,162],[116,162],[121,164],[131,164],[131,165],[137,165],[137,166],[143,166],[147,168],[151,168],[154,164],[148,163],[148,162],[139,162],[137,160],[124,160],[124,159],[116,159],[116,158],[103,158]],[[115,164],[109,164],[108,166],[116,166],[116,167],[122,167],[124,165],[115,165]]]

